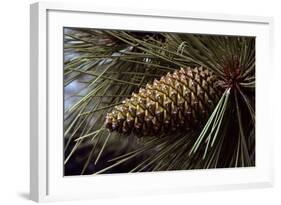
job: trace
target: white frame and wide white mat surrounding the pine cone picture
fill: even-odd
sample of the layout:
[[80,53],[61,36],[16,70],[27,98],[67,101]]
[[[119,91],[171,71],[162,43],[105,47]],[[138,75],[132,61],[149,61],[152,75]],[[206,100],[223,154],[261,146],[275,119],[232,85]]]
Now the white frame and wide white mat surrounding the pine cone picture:
[[[272,68],[272,18],[187,11],[97,8],[92,4],[47,2],[32,4],[30,11],[32,200],[94,199],[273,186],[273,134],[267,129],[270,120],[265,120],[271,119],[271,115],[262,109],[269,105],[266,97],[268,87],[263,83],[270,81],[269,72],[262,68]],[[256,166],[243,169],[64,177],[61,106],[64,26],[256,36]],[[75,190],[71,187],[75,187]]]

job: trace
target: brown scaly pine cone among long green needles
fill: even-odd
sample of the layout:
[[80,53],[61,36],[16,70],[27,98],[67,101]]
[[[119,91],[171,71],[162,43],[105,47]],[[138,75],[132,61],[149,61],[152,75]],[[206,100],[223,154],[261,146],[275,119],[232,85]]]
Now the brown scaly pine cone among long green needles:
[[139,136],[197,128],[222,94],[217,81],[211,71],[202,67],[168,73],[107,113],[106,127]]

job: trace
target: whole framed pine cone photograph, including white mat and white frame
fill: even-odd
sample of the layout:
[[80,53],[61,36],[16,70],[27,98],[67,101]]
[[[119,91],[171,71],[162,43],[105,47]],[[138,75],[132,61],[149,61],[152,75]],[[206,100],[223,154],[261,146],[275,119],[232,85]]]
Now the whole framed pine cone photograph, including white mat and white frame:
[[273,184],[269,17],[31,5],[35,201]]

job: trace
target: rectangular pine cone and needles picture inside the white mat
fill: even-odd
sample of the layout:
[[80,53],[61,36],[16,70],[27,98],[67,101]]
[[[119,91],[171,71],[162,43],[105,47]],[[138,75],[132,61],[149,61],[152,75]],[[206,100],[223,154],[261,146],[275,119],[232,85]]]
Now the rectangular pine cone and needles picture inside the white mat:
[[64,29],[65,175],[255,165],[255,38]]

